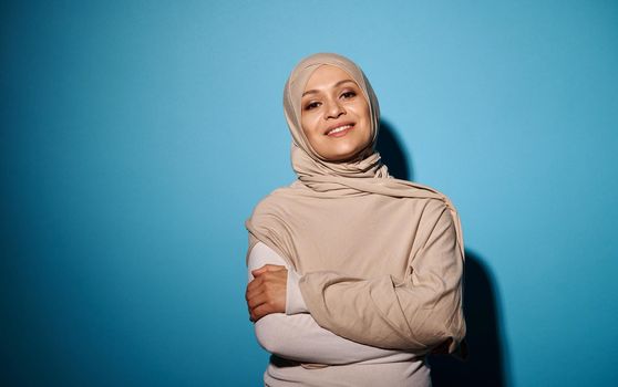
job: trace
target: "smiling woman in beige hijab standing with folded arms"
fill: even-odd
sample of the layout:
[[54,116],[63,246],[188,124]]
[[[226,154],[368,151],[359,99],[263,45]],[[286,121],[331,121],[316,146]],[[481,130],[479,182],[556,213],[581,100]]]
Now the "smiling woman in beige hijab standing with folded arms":
[[454,207],[389,176],[378,101],[350,60],[302,60],[284,106],[298,179],[246,221],[265,384],[430,386],[426,355],[457,352],[465,335]]

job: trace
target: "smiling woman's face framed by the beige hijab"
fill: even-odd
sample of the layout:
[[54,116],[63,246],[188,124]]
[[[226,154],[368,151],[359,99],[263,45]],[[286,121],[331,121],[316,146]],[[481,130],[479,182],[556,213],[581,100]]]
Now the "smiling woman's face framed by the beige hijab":
[[311,147],[329,161],[351,159],[371,140],[369,104],[343,70],[319,66],[307,81],[301,125]]

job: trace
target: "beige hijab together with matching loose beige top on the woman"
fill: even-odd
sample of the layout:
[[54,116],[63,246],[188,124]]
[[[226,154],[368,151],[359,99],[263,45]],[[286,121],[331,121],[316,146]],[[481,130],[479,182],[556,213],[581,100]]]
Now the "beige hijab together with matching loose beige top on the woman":
[[[325,64],[344,70],[370,106],[371,143],[351,161],[323,159],[300,124],[305,85]],[[284,107],[298,179],[256,206],[248,252],[261,241],[303,274],[311,315],[340,336],[419,353],[447,342],[454,352],[465,334],[457,212],[439,191],[389,175],[374,150],[380,112],[363,72],[338,54],[310,55],[291,72]],[[439,229],[452,238],[436,238]]]

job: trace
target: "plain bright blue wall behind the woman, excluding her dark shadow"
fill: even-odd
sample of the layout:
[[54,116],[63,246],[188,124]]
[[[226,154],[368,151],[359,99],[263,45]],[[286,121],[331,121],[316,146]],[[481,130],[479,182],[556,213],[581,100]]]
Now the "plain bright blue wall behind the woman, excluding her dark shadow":
[[259,385],[244,221],[319,51],[457,206],[504,384],[618,380],[615,1],[4,1],[3,385]]

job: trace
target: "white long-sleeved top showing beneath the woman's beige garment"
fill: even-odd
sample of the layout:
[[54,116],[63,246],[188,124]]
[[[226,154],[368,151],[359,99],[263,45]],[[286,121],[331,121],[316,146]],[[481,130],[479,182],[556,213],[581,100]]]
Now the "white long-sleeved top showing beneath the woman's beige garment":
[[431,386],[424,357],[352,342],[319,326],[305,305],[300,275],[261,242],[249,253],[249,282],[251,271],[265,264],[288,269],[286,313],[255,324],[258,343],[274,355],[264,375],[267,386]]

